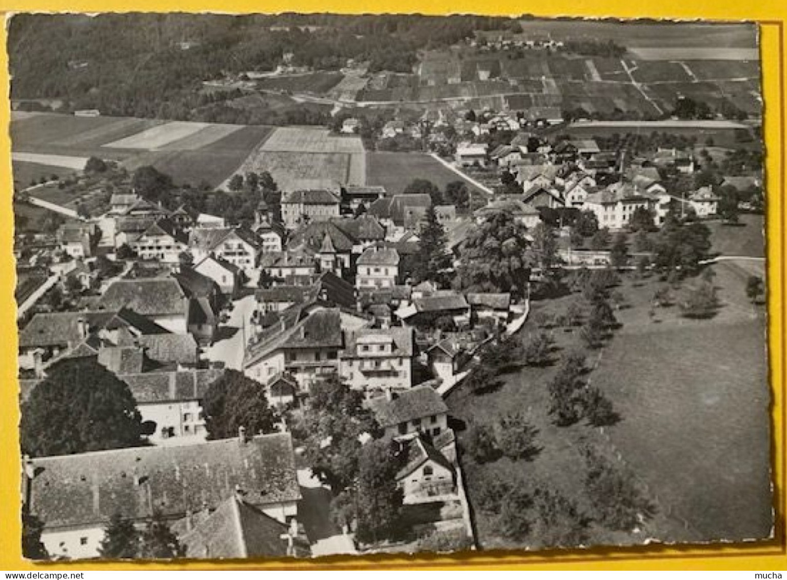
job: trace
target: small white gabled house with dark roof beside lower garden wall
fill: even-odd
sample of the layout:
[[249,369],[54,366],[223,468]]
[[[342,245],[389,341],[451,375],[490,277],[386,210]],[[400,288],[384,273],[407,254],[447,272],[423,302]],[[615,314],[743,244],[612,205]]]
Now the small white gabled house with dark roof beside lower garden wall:
[[438,501],[456,496],[456,468],[442,452],[423,437],[405,443],[405,467],[396,475],[397,486],[404,494],[404,504]]

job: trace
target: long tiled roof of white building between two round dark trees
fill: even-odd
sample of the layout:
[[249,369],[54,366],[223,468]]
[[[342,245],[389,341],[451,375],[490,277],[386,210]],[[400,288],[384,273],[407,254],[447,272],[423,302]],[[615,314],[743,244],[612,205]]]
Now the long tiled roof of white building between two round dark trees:
[[153,371],[129,373],[119,378],[128,385],[139,405],[174,401],[199,401],[212,382],[224,375],[224,369],[189,369],[187,371]]

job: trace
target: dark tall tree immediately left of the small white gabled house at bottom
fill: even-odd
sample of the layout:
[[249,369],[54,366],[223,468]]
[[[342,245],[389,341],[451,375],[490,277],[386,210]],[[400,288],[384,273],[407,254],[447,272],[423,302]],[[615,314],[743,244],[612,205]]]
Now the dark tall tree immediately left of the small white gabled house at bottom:
[[396,476],[402,459],[394,452],[393,441],[368,441],[358,460],[358,527],[356,537],[376,543],[395,537],[404,494]]

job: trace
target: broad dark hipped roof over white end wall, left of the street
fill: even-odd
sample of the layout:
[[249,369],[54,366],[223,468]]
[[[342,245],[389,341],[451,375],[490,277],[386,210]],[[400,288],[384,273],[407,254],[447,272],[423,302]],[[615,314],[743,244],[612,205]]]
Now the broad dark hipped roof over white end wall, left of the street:
[[105,308],[131,308],[144,316],[185,314],[186,295],[173,278],[116,280],[102,296]]

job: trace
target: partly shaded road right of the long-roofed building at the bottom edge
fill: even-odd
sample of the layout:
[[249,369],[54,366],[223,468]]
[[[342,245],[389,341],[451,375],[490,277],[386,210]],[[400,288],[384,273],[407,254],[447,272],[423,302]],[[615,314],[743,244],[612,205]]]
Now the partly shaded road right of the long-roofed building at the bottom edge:
[[356,553],[353,540],[331,522],[331,490],[313,477],[309,469],[299,469],[297,481],[303,497],[297,506],[298,520],[312,545],[312,556]]

